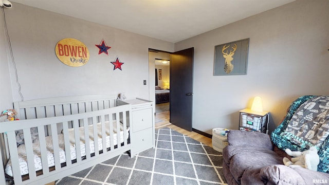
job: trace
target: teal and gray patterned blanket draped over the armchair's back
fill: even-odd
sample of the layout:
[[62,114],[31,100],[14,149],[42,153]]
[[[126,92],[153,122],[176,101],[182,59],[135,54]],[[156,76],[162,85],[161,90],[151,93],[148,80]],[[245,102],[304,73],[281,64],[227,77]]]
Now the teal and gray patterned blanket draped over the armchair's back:
[[328,102],[327,96],[299,97],[271,134],[272,142],[282,150],[304,151],[316,146],[320,157],[318,171],[324,173],[329,173]]

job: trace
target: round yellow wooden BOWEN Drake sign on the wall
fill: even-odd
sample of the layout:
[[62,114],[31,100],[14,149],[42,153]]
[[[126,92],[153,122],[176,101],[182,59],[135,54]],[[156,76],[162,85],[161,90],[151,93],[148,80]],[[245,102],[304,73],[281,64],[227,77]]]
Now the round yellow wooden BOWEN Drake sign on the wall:
[[88,48],[79,40],[66,38],[56,44],[57,58],[72,67],[85,65],[89,60]]

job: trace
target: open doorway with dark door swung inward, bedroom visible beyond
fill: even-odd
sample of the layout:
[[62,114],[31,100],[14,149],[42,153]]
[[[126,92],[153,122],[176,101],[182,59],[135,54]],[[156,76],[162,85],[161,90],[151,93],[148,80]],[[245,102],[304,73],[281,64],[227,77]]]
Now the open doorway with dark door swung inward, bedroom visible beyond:
[[[162,86],[169,86],[170,89],[170,110],[167,111],[170,112],[169,122],[187,131],[192,131],[193,55],[194,48],[172,53],[149,49],[149,98],[156,102],[155,76],[159,75],[159,72],[155,70],[155,61],[169,61],[169,84],[166,85],[167,80],[162,80]],[[162,78],[162,70],[160,75]],[[163,89],[163,87],[160,88]]]

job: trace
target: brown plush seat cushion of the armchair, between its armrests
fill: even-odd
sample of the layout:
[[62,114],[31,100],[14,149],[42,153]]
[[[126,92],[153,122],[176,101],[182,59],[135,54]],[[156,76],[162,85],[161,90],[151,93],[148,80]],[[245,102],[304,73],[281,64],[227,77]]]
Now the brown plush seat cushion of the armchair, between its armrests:
[[[258,168],[258,172],[253,172],[258,174],[267,165],[283,164],[282,157],[275,152],[257,146],[228,145],[224,148],[223,160],[238,183],[241,183],[243,173],[249,168]],[[260,179],[259,175],[256,178]]]

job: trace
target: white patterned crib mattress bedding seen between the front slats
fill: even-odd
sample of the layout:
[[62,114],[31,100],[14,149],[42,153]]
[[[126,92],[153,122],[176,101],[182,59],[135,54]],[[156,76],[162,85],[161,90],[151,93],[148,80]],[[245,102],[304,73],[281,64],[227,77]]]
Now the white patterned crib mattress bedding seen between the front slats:
[[[103,149],[102,144],[102,130],[101,130],[101,123],[97,123],[98,128],[98,149],[101,151]],[[130,128],[126,128],[126,135],[129,136],[129,130]],[[94,137],[93,137],[93,125],[88,126],[89,131],[89,143],[90,143],[90,154],[95,152],[94,147]],[[76,149],[75,149],[75,135],[74,135],[74,128],[69,128],[69,140],[70,140],[70,156],[71,160],[74,160],[77,158],[76,155]],[[116,128],[116,121],[113,121],[113,132],[114,134],[114,145],[117,145],[117,128]],[[109,123],[108,121],[105,122],[105,133],[106,133],[106,148],[110,147],[110,137],[109,137]],[[84,127],[79,127],[79,134],[80,134],[80,149],[81,149],[81,156],[86,155],[86,149],[84,144]],[[48,158],[48,167],[53,167],[54,164],[54,156],[53,156],[53,149],[52,149],[52,138],[51,136],[46,136],[46,147],[47,147],[47,158]],[[123,142],[123,125],[120,123],[120,141]],[[60,162],[66,162],[65,158],[65,150],[64,150],[64,135],[58,134],[58,142],[59,142],[59,156],[60,156]],[[40,152],[40,145],[39,142],[32,143],[33,146],[33,153],[34,153],[34,166],[35,171],[42,170],[42,162],[41,162],[41,152]],[[21,144],[17,147],[17,152],[19,155],[19,163],[20,163],[20,170],[21,175],[28,174],[28,168],[27,168],[27,157],[26,157],[26,150],[25,150],[25,144]],[[11,168],[11,159],[7,162],[6,168],[5,168],[6,174],[13,176],[12,174],[12,168]]]

